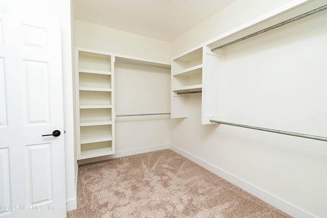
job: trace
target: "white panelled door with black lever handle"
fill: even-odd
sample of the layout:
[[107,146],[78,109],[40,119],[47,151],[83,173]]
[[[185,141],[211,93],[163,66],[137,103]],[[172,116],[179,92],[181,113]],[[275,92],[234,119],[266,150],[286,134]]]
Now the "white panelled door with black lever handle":
[[0,11],[0,217],[66,217],[62,104],[60,22]]

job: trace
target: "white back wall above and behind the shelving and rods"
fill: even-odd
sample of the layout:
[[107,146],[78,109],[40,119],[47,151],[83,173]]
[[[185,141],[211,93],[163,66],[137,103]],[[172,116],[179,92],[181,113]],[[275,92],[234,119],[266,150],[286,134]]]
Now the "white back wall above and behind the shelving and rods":
[[[170,63],[168,42],[75,20],[76,46],[159,63]],[[116,114],[170,112],[170,70],[115,63]],[[115,155],[79,164],[168,148],[170,116],[116,117]]]

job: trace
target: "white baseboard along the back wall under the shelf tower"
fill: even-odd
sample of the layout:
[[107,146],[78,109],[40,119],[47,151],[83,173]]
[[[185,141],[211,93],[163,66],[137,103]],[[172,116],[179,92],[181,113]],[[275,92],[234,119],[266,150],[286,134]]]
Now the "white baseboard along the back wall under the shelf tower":
[[101,156],[101,157],[79,160],[78,164],[82,165],[82,164],[93,163],[93,162],[98,162],[98,161],[102,161],[102,160],[109,160],[109,159],[113,159],[113,158],[131,156],[131,155],[135,155],[135,154],[159,151],[159,150],[163,150],[163,149],[169,149],[169,144],[158,144],[156,146],[119,151],[112,155],[106,155],[106,156]]

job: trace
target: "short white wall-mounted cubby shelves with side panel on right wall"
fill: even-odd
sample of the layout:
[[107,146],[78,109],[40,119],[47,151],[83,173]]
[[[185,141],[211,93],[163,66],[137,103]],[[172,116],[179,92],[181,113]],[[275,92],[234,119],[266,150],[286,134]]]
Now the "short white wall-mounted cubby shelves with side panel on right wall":
[[173,58],[172,63],[171,117],[188,117],[189,95],[202,93],[201,123],[220,118],[223,54],[201,46]]

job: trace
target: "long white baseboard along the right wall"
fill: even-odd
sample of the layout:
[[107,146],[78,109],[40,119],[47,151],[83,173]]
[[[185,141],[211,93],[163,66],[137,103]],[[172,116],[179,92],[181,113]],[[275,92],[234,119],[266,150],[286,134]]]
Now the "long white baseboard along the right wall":
[[255,185],[252,185],[240,178],[238,178],[237,176],[234,176],[226,171],[224,171],[223,169],[208,163],[182,149],[179,149],[175,146],[173,146],[172,144],[169,145],[169,149],[173,150],[174,152],[188,158],[189,160],[199,164],[200,166],[204,167],[205,169],[207,169],[208,171],[211,171],[212,173],[216,174],[217,176],[220,176],[221,178],[227,180],[228,182],[237,185],[238,187],[250,192],[252,195],[258,197],[259,199],[267,202],[268,204],[278,208],[279,210],[282,210],[286,213],[288,213],[289,215],[296,217],[296,218],[314,218],[316,217],[315,215],[302,210],[301,208],[298,208],[297,206],[284,201],[283,199],[280,199],[274,195],[272,195],[271,193],[256,187]]

